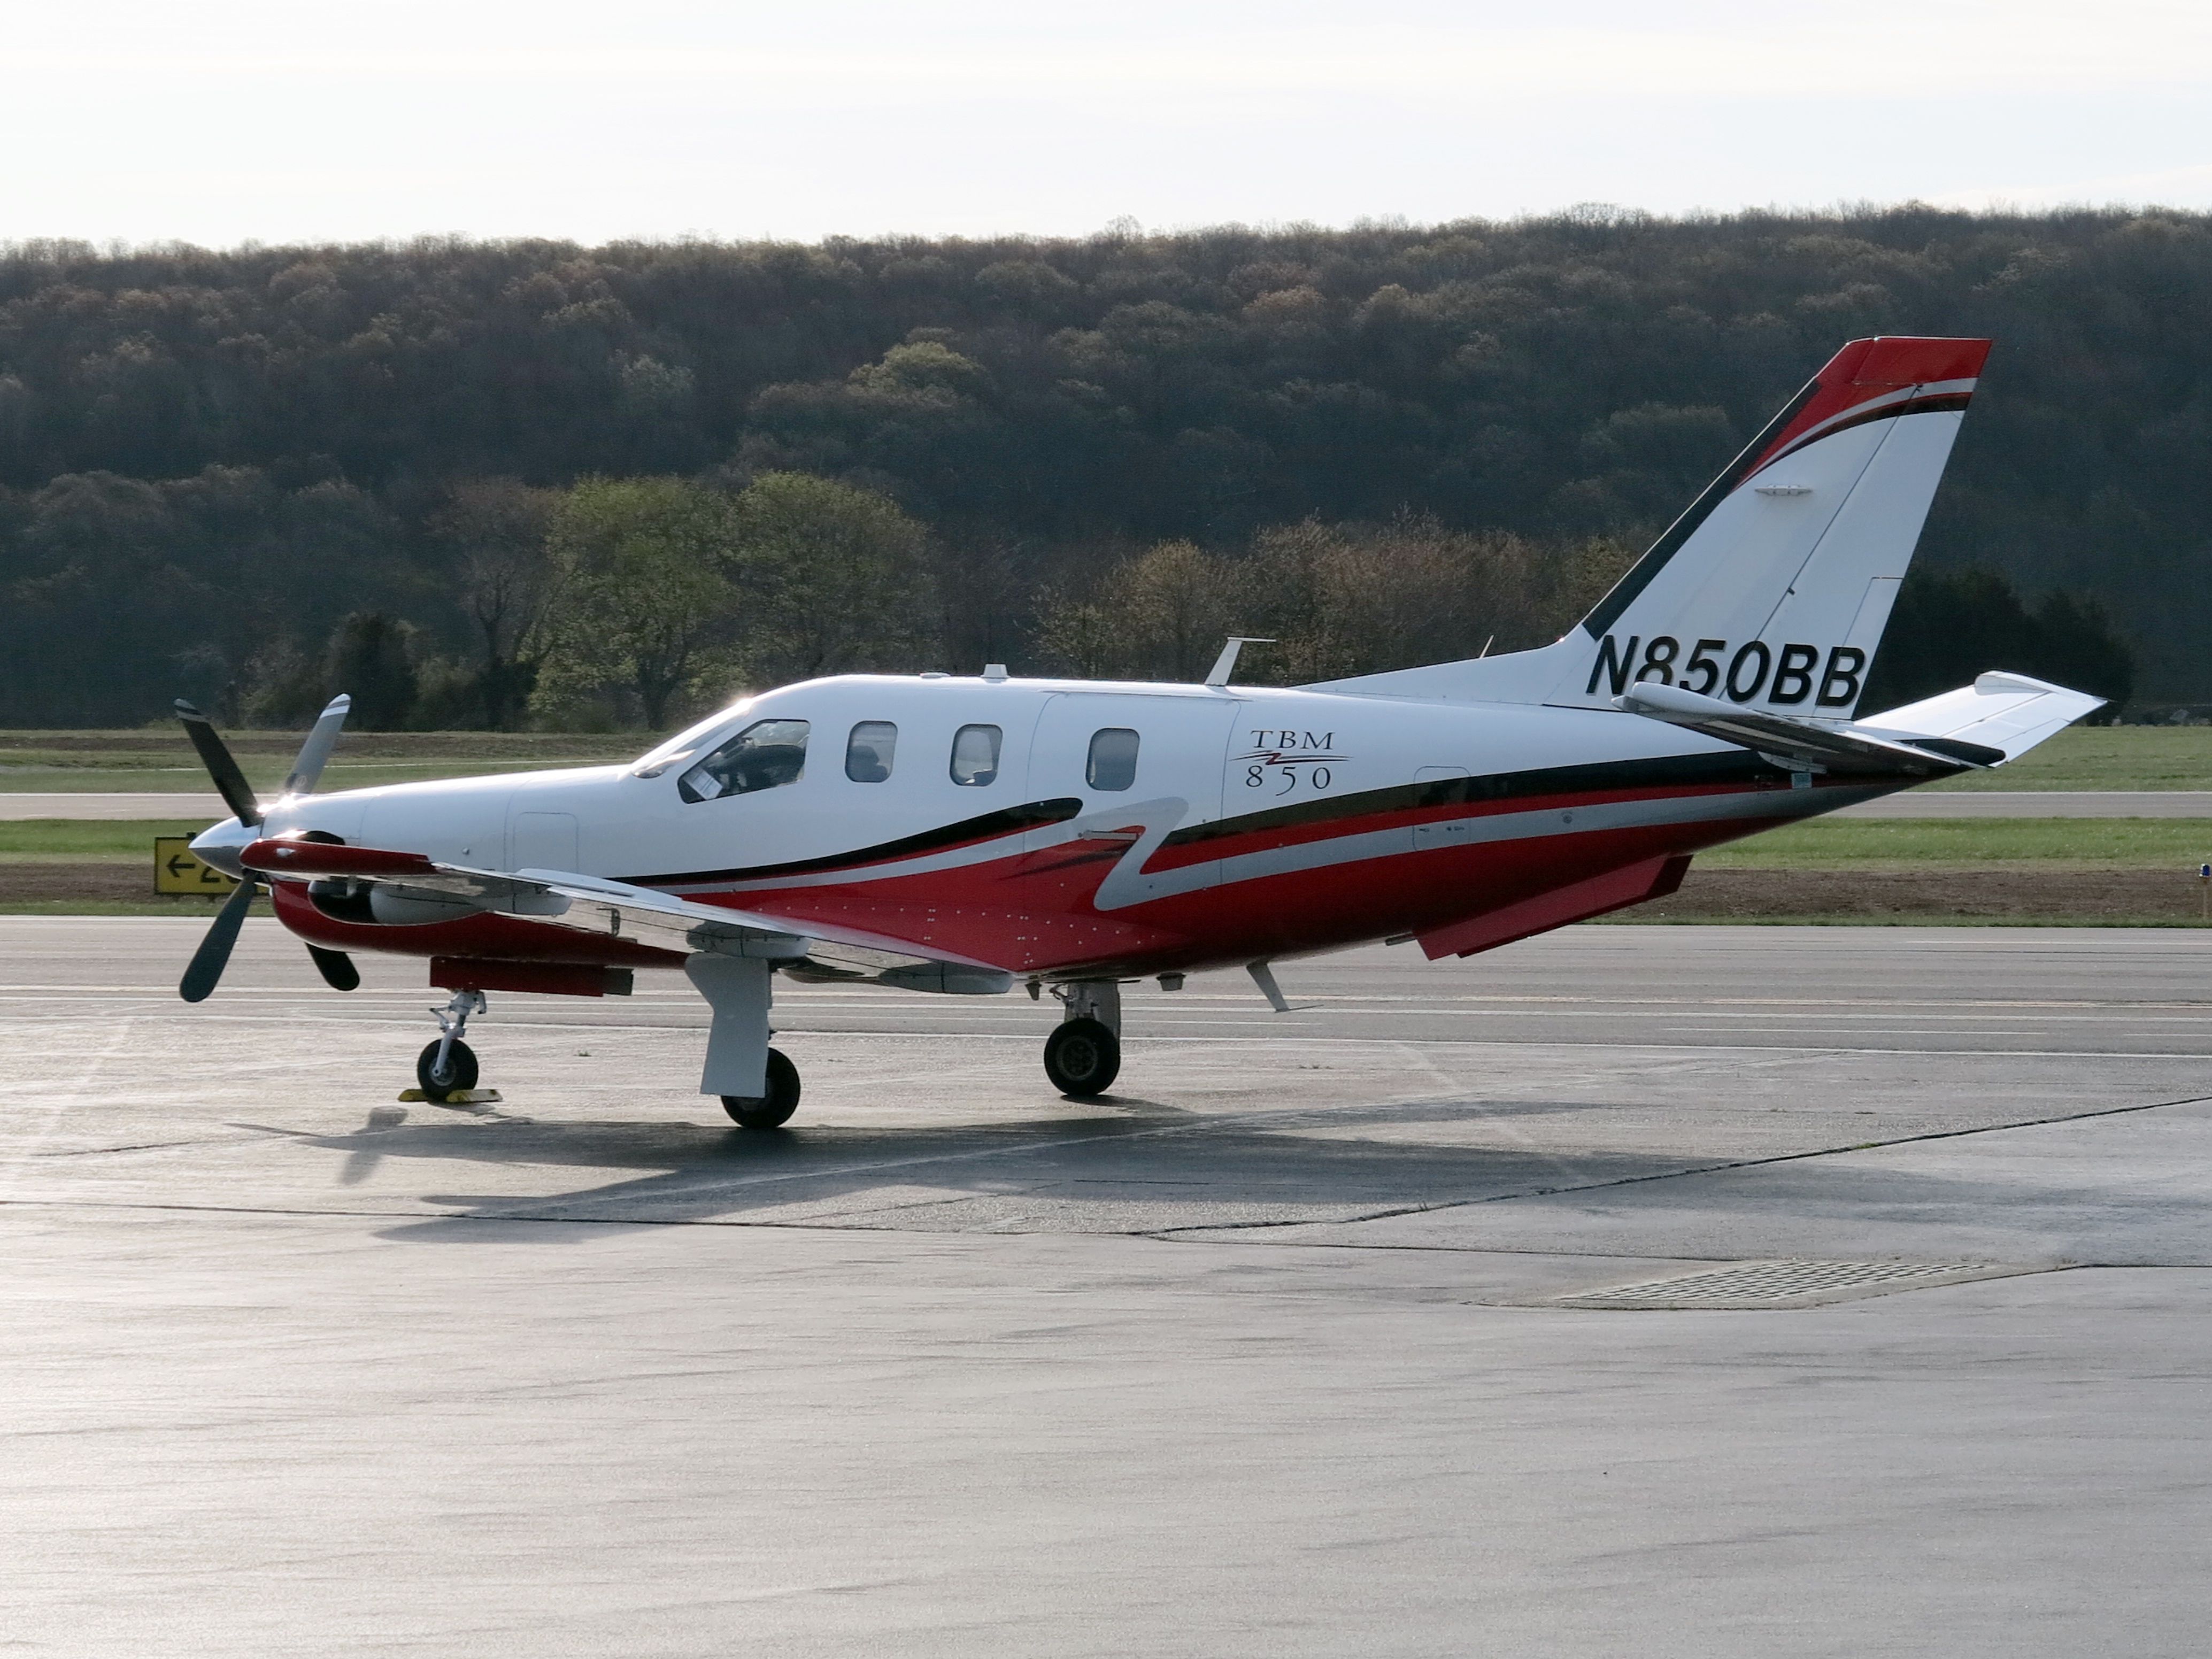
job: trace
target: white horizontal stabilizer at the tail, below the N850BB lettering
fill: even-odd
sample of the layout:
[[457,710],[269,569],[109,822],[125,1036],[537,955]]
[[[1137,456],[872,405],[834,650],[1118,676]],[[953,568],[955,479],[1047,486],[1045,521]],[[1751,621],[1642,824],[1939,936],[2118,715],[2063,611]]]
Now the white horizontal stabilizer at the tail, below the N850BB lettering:
[[1657,681],[1639,681],[1615,697],[1613,706],[1723,743],[1741,743],[1783,765],[1947,776],[2004,765],[2101,708],[2104,699],[2022,675],[1982,675],[1973,686],[1942,697],[1838,726],[1739,708]]

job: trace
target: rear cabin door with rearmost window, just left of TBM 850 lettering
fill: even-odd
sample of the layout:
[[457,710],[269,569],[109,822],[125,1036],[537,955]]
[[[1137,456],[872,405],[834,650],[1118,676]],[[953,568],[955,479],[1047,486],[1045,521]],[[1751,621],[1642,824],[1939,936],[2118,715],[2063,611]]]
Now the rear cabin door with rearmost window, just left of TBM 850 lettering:
[[[1175,830],[1221,816],[1221,752],[1237,708],[1230,697],[1055,692],[1031,739],[1029,796],[1077,799],[1099,838],[1141,841],[1144,856],[1115,878],[1115,889],[1130,889],[1133,898],[1212,887],[1221,878],[1217,858],[1179,856],[1161,843]],[[1099,823],[1117,807],[1128,807],[1124,823]],[[1031,847],[1062,838],[1060,825],[1040,827]]]

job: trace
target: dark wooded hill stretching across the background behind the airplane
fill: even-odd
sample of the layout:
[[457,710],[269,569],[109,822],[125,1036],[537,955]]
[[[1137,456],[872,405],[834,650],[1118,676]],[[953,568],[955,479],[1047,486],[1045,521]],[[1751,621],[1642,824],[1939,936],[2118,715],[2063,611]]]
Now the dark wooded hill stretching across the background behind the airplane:
[[[1880,332],[1997,341],[1924,562],[2101,604],[2139,697],[2212,701],[2212,219],[1909,206],[0,250],[0,723],[133,723],[179,690],[307,697],[345,628],[431,688],[409,719],[522,719],[531,686],[471,681],[502,648],[462,504],[520,491],[542,531],[557,502],[531,491],[591,476],[732,502],[763,478],[836,480],[852,489],[807,500],[838,522],[869,518],[854,491],[896,502],[872,557],[902,549],[885,597],[914,615],[827,648],[830,670],[1068,666],[1117,628],[1124,560],[1161,542],[1188,542],[1199,562],[1175,557],[1199,575],[1303,557],[1314,577],[1298,546],[1338,549],[1354,588],[1469,573],[1447,617],[1425,602],[1332,664],[1531,644],[1840,341]],[[491,535],[522,522],[491,518]],[[814,546],[774,522],[776,557],[717,544],[723,639],[686,695],[799,661],[750,633],[794,595],[745,571],[787,575]],[[2073,597],[2048,615],[2097,626]],[[595,717],[641,710],[611,692]]]

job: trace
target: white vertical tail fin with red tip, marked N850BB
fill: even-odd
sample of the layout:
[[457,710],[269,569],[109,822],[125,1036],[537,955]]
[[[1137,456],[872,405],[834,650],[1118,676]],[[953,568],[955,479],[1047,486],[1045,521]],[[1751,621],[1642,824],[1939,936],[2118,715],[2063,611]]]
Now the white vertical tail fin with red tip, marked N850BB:
[[1555,646],[1332,690],[1608,708],[1637,681],[1849,719],[1989,341],[1851,341]]

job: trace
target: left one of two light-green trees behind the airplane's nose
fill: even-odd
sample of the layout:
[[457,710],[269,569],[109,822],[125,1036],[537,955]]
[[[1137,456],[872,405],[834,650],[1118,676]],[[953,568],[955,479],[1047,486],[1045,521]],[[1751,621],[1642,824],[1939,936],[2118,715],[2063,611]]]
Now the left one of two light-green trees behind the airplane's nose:
[[723,575],[734,555],[723,495],[681,478],[586,478],[555,504],[546,553],[535,710],[599,701],[659,732],[681,699],[728,672],[737,593]]

